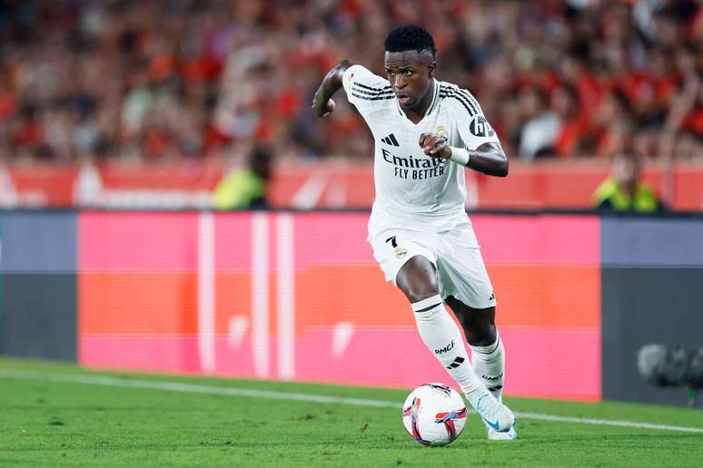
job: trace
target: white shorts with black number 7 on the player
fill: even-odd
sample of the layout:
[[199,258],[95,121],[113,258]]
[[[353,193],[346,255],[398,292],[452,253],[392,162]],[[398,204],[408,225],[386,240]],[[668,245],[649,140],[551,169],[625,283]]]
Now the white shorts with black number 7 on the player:
[[405,262],[421,255],[437,268],[442,298],[453,296],[474,308],[496,305],[479,242],[470,223],[439,233],[384,229],[371,233],[369,243],[386,280],[393,284]]

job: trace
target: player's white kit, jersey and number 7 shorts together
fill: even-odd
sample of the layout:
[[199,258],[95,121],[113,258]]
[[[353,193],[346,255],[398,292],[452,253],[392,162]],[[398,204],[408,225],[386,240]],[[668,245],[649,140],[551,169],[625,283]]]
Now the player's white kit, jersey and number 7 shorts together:
[[430,108],[416,124],[402,112],[388,80],[361,65],[344,73],[347,98],[375,141],[376,198],[367,240],[386,280],[395,283],[405,262],[422,255],[438,270],[441,297],[492,307],[493,288],[464,208],[465,169],[425,155],[419,141],[421,133],[440,133],[450,146],[475,150],[498,142],[498,136],[468,91],[437,80],[433,84]]

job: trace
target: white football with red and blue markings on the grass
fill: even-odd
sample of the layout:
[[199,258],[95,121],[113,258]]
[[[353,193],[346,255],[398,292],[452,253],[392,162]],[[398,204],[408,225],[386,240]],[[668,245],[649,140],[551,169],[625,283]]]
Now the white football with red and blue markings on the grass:
[[422,445],[451,444],[464,430],[466,416],[459,392],[444,384],[420,385],[402,405],[402,424]]

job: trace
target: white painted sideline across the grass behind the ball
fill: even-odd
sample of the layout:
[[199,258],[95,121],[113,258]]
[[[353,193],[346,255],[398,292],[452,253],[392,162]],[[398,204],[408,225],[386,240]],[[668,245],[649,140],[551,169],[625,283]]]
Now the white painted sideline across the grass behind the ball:
[[[135,380],[97,375],[53,374],[15,369],[0,369],[0,378],[16,378],[22,380],[47,380],[50,382],[64,382],[70,384],[86,384],[114,386],[123,388],[148,388],[152,390],[168,390],[172,392],[188,392],[210,395],[247,396],[251,398],[270,398],[274,400],[295,400],[312,403],[331,403],[337,405],[374,406],[379,408],[401,409],[401,405],[394,402],[371,400],[367,398],[342,398],[339,396],[295,394],[288,392],[272,392],[250,388],[232,388],[225,386],[181,384],[179,382],[163,382],[157,380]],[[633,429],[652,429],[657,431],[673,431],[679,433],[703,434],[703,427],[688,427],[682,425],[636,423],[631,421],[613,421],[609,419],[592,419],[581,417],[558,416],[554,414],[522,413],[515,412],[520,419],[534,419],[537,421],[554,421],[559,423],[611,425],[617,427],[630,427]]]

